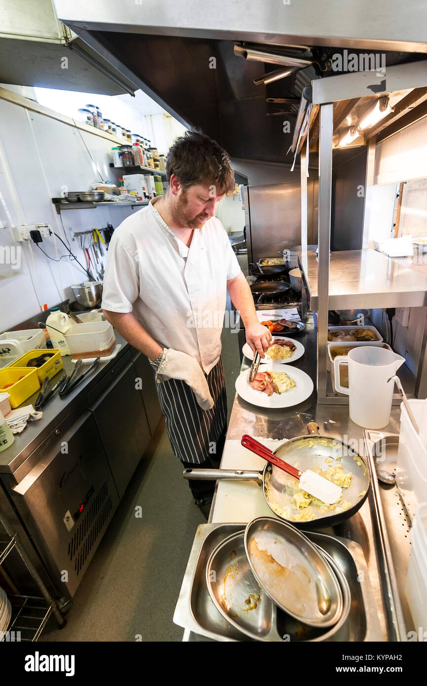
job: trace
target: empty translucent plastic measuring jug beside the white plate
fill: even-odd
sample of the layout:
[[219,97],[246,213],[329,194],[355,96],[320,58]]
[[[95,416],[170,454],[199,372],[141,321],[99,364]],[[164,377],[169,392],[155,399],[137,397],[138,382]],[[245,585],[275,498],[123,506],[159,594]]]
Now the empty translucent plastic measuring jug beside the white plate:
[[[382,429],[390,421],[394,376],[405,358],[386,348],[360,346],[348,355],[334,359],[335,388],[349,396],[349,415],[354,423],[365,429]],[[347,364],[349,386],[341,386],[340,365]]]

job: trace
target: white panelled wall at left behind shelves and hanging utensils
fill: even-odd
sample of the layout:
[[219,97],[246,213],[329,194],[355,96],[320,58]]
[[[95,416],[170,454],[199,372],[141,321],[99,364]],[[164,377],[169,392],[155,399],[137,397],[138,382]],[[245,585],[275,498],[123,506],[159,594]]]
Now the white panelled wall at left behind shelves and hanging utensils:
[[[70,239],[72,252],[86,265],[78,239],[71,241],[68,227],[78,232],[102,228],[109,222],[116,228],[132,210],[129,206],[113,206],[63,211],[64,230],[51,198],[60,196],[63,187],[90,189],[91,182],[100,180],[95,165],[104,179],[117,182],[121,172],[109,167],[112,145],[108,139],[0,99],[0,150],[4,152],[3,161],[0,156],[0,192],[14,224],[49,223],[65,242],[67,237]],[[5,224],[6,220],[0,203],[0,221]],[[6,228],[0,228],[0,247],[18,248],[21,257],[19,269],[0,263],[1,331],[34,316],[44,304],[56,305],[68,296],[67,287],[87,280],[85,272],[69,257],[56,263],[34,244],[32,255],[30,246],[25,242],[16,243]],[[51,237],[43,239],[41,247],[48,255],[56,257]],[[60,241],[57,241],[57,248],[59,257],[68,254]],[[0,252],[0,262],[5,261],[4,255],[4,251]],[[14,276],[5,279],[7,272]]]

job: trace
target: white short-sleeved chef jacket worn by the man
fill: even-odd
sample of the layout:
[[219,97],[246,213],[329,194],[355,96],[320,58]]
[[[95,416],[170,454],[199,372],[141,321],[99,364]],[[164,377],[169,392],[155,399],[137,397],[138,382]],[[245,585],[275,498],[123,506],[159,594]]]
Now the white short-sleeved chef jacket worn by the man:
[[132,312],[162,348],[187,353],[209,374],[221,353],[227,281],[240,266],[216,217],[194,230],[187,248],[155,209],[157,200],[115,229],[102,308]]

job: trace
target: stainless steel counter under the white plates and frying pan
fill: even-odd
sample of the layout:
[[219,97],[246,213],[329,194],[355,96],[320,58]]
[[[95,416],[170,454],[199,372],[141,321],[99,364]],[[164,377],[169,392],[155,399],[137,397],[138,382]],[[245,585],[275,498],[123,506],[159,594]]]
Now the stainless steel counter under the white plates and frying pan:
[[[301,359],[295,362],[295,366],[302,368],[312,377],[313,381],[316,379],[316,335],[312,323],[306,324],[305,333],[299,337],[299,340],[305,346],[305,354]],[[246,359],[243,361],[242,369],[248,368]],[[227,439],[242,438],[242,434],[251,434],[252,436],[261,436],[262,438],[292,438],[305,434],[306,425],[310,421],[316,421],[319,426],[320,433],[332,437],[339,437],[344,442],[349,443],[351,447],[357,449],[360,453],[366,454],[363,442],[363,428],[354,424],[348,414],[348,407],[343,405],[317,405],[316,392],[314,391],[304,403],[296,407],[290,407],[283,410],[264,410],[246,403],[240,397],[235,396],[233,408],[231,410],[231,417],[227,431]],[[400,409],[393,407],[391,413],[391,420],[387,427],[382,431],[386,433],[396,434],[399,432]],[[381,491],[380,487],[380,491]],[[382,496],[380,495],[381,499]],[[397,501],[399,501],[397,497]],[[393,503],[396,503],[396,498],[393,496]],[[399,546],[399,536],[405,536],[405,532],[397,532],[397,528],[402,530],[401,521],[399,521],[401,505],[398,510],[391,510],[389,507],[391,497],[389,490],[385,494],[382,507],[387,511],[386,525],[392,526],[395,531],[393,535],[393,560],[395,565],[397,560],[400,560],[396,566],[399,567],[400,572],[406,570],[408,566],[408,551],[407,539],[402,539],[402,546]],[[211,508],[211,513],[214,510],[215,499]],[[369,495],[365,504],[360,508],[354,517],[336,525],[334,528],[323,530],[325,533],[342,536],[345,539],[356,541],[365,554],[369,580],[373,589],[373,595],[376,603],[376,611],[380,619],[380,625],[384,641],[406,640],[406,630],[410,630],[411,617],[408,615],[406,607],[406,599],[395,599],[395,606],[393,601],[389,598],[389,581],[387,580],[388,573],[382,568],[382,562],[378,560],[377,549],[380,545],[379,532],[376,530],[374,523],[374,512],[376,506],[373,499],[373,494]],[[211,518],[209,519],[211,521]],[[396,533],[397,532],[397,533]],[[405,573],[405,571],[404,571]],[[391,581],[395,584],[395,575],[393,569],[391,570]],[[400,584],[402,586],[402,584]],[[397,591],[394,585],[394,591]],[[402,611],[404,606],[404,612]],[[194,635],[193,632],[186,630],[183,640],[204,640]]]

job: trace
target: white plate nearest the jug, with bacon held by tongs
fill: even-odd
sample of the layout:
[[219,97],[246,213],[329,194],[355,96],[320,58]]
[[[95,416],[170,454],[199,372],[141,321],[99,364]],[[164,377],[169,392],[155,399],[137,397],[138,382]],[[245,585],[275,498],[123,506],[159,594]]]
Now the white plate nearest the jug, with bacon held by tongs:
[[[263,366],[263,372],[268,370],[273,372],[285,371],[276,360],[268,362],[268,364]],[[251,405],[270,408],[292,407],[307,400],[313,392],[313,382],[308,374],[305,374],[301,369],[297,369],[297,367],[286,367],[286,374],[295,381],[296,385],[291,390],[286,391],[286,393],[273,393],[273,395],[268,397],[266,393],[262,393],[260,390],[255,390],[249,386],[249,371],[249,369],[246,369],[246,371],[240,373],[235,380],[235,390],[241,398],[251,403]]]

